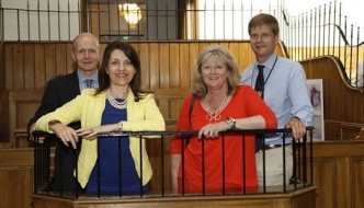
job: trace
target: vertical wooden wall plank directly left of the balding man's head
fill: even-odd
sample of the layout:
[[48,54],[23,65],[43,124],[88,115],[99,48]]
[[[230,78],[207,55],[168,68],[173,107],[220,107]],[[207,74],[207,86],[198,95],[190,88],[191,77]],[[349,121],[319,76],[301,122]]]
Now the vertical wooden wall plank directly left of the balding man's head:
[[56,43],[55,44],[55,63],[56,74],[67,74],[67,62],[71,58],[70,51],[67,49],[67,44]]

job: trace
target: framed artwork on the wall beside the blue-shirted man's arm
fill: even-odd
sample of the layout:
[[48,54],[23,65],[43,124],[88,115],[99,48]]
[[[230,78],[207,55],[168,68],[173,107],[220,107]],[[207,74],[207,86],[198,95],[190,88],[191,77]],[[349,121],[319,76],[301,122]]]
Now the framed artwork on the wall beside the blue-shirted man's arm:
[[314,107],[314,141],[325,140],[322,79],[307,80],[309,100]]

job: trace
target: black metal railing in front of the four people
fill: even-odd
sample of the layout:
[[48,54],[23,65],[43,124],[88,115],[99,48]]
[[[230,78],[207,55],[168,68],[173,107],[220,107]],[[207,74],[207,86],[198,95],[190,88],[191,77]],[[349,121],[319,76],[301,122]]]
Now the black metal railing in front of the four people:
[[[133,136],[139,138],[139,147],[143,146],[143,140],[153,141],[156,142],[152,147],[153,148],[147,148],[148,153],[150,151],[153,151],[152,155],[149,155],[149,160],[153,160],[157,166],[153,166],[153,176],[151,181],[153,181],[153,187],[150,186],[150,189],[148,192],[144,192],[141,188],[141,181],[143,181],[143,173],[140,173],[140,190],[137,193],[125,193],[122,189],[118,193],[105,193],[100,192],[96,193],[87,193],[81,189],[77,189],[76,192],[64,192],[62,189],[54,192],[52,190],[52,181],[53,181],[53,152],[54,152],[54,141],[58,141],[59,139],[52,134],[43,132],[43,131],[35,131],[35,145],[34,145],[34,194],[37,195],[46,195],[46,196],[55,196],[60,198],[69,198],[69,199],[81,199],[81,198],[107,198],[107,197],[118,197],[118,198],[140,198],[140,197],[168,197],[168,196],[191,196],[191,195],[198,195],[198,196],[205,196],[205,195],[230,195],[230,194],[238,194],[238,195],[263,195],[263,194],[282,194],[282,193],[292,193],[297,192],[303,188],[311,187],[314,185],[314,170],[312,170],[312,127],[307,127],[307,134],[300,139],[300,140],[293,140],[292,147],[293,147],[293,175],[292,175],[292,183],[286,184],[285,174],[283,174],[283,185],[281,186],[258,186],[255,189],[248,189],[246,185],[239,190],[229,192],[225,188],[225,183],[223,183],[223,189],[220,192],[207,192],[205,190],[205,180],[204,180],[204,165],[202,166],[203,176],[201,178],[201,183],[203,186],[203,190],[201,193],[187,193],[184,192],[184,188],[182,188],[182,192],[175,193],[171,190],[171,181],[170,181],[170,166],[166,164],[166,161],[168,161],[169,154],[166,155],[166,152],[168,152],[168,148],[166,146],[169,146],[172,137],[174,135],[183,136],[182,138],[190,138],[189,136],[197,134],[195,130],[187,130],[187,131],[125,131],[125,132],[105,132],[105,134],[98,134],[98,137],[113,137],[121,139],[125,136]],[[265,129],[265,130],[229,130],[220,132],[221,137],[221,143],[224,145],[224,140],[231,139],[226,138],[226,136],[235,135],[239,136],[242,139],[242,142],[244,142],[247,135],[252,135],[257,132],[263,132],[263,134],[281,134],[282,135],[282,142],[283,142],[283,155],[285,153],[285,148],[287,143],[285,143],[285,139],[288,136],[287,134],[291,132],[291,129]],[[160,138],[158,139],[145,139],[148,136],[158,136]],[[37,139],[41,137],[46,137],[43,143],[37,142]],[[60,142],[60,141],[59,141]],[[205,139],[201,139],[202,145],[202,160],[204,161],[205,154],[207,155],[208,152],[204,152],[204,142]],[[57,147],[59,148],[59,147]],[[182,146],[184,152],[184,146]],[[98,150],[99,151],[99,150]],[[121,149],[120,149],[121,151]],[[265,150],[263,149],[263,154]],[[141,152],[141,151],[140,151]],[[246,152],[243,149],[242,152]],[[241,153],[242,153],[241,152]],[[76,153],[76,151],[75,151]],[[99,152],[98,152],[99,155]],[[120,152],[121,155],[121,152]],[[183,160],[182,154],[182,160]],[[223,157],[223,182],[224,182],[224,148],[221,152]],[[243,153],[242,153],[243,155]],[[141,157],[141,153],[140,155]],[[284,157],[283,157],[284,158]],[[118,158],[118,160],[122,160]],[[141,161],[141,160],[140,160]],[[285,161],[285,160],[284,160]],[[65,161],[69,162],[69,161]],[[284,162],[283,162],[284,163]],[[181,163],[182,172],[183,172],[183,162]],[[264,162],[263,162],[264,164]],[[143,161],[140,163],[140,170],[143,172]],[[216,170],[219,171],[219,170]],[[249,166],[246,166],[243,164],[243,173],[249,172]],[[285,165],[283,165],[283,172],[285,172]],[[78,177],[78,170],[77,166],[75,167],[75,175]],[[243,174],[246,175],[246,174]],[[264,172],[265,175],[265,172]],[[182,176],[183,177],[183,176]],[[242,178],[243,181],[246,178]],[[182,180],[184,181],[184,180]],[[265,180],[264,180],[265,181]],[[120,183],[120,182],[115,182]],[[151,183],[151,182],[149,182]],[[243,183],[246,184],[246,183]],[[265,183],[264,183],[265,184]]]

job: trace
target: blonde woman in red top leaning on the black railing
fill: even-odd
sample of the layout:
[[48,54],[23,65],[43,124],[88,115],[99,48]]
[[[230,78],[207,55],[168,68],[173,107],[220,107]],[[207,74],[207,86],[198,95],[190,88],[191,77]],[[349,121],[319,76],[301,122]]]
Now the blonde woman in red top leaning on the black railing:
[[[177,129],[200,131],[191,137],[185,149],[182,148],[182,136],[173,137],[173,192],[182,192],[182,188],[184,193],[242,192],[244,187],[246,190],[257,189],[254,135],[225,135],[223,139],[219,131],[276,128],[274,113],[253,89],[239,85],[237,62],[221,46],[209,46],[202,51],[193,80],[192,93],[197,94],[197,99],[191,114],[191,126],[189,109],[192,94],[182,105]],[[182,153],[184,164],[181,164]]]

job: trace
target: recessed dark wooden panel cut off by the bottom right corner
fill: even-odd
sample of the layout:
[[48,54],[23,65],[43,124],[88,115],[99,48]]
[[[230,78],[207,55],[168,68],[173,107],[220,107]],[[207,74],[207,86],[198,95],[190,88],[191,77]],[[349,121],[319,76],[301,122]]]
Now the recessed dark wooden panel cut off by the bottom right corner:
[[354,197],[353,207],[364,207],[364,158],[353,158],[352,161],[352,189]]

